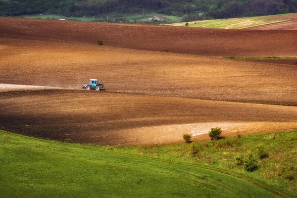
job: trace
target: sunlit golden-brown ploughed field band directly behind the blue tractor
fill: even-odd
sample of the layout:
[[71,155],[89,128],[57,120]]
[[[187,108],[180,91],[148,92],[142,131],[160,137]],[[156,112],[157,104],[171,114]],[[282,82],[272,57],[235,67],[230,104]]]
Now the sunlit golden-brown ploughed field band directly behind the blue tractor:
[[3,36],[0,83],[297,105],[297,67]]

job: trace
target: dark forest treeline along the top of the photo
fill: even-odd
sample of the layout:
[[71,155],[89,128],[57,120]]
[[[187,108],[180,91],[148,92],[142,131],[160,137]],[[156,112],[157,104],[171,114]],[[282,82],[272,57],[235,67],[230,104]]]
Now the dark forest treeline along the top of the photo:
[[159,13],[183,21],[297,12],[297,0],[0,0],[0,15],[52,13],[96,16]]

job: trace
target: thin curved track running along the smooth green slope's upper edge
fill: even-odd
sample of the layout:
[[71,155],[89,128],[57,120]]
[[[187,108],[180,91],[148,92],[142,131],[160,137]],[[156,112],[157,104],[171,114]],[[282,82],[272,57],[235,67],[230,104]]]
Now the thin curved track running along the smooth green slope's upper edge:
[[[28,136],[22,136],[22,135],[18,135],[18,134],[13,134],[13,133],[9,133],[7,131],[3,131],[0,130],[1,133],[3,134],[7,134],[7,135],[12,135],[12,136],[17,136],[17,137],[21,137],[21,138],[25,138],[25,139],[29,139],[29,140],[34,140],[34,141],[40,141],[40,142],[48,142],[48,140],[43,140],[43,139],[36,139],[36,138],[32,138],[32,137],[28,137]],[[60,142],[54,142],[51,141],[51,144],[54,145],[61,145],[62,143]],[[218,168],[213,168],[213,167],[206,167],[206,166],[201,166],[201,165],[195,165],[195,164],[190,164],[190,163],[182,163],[182,162],[176,162],[176,161],[169,161],[169,160],[162,160],[159,158],[152,158],[152,157],[148,157],[148,156],[141,156],[141,155],[135,155],[135,154],[129,154],[129,153],[123,153],[123,152],[114,152],[114,151],[108,151],[108,150],[104,150],[104,149],[96,149],[96,148],[90,148],[87,146],[78,146],[78,145],[70,145],[70,144],[63,144],[63,147],[71,147],[71,148],[83,148],[83,149],[87,149],[87,150],[93,150],[93,151],[100,151],[100,152],[105,152],[105,153],[111,153],[111,154],[118,154],[118,155],[123,155],[123,156],[129,156],[129,157],[135,157],[135,158],[141,158],[141,159],[146,159],[146,160],[153,160],[153,161],[160,161],[160,162],[166,162],[166,163],[171,163],[171,164],[178,164],[178,165],[183,165],[183,166],[192,166],[192,167],[198,167],[201,169],[206,169],[206,170],[210,170],[213,172],[219,172],[225,175],[228,175],[230,177],[236,178],[238,180],[241,180],[243,182],[246,182],[248,184],[251,184],[257,188],[260,188],[262,190],[265,190],[266,192],[274,195],[275,197],[278,198],[291,198],[290,196],[264,184],[263,182],[257,181],[253,178],[241,175],[239,173],[234,173],[231,171],[227,171],[227,170],[223,170],[223,169],[218,169]]]

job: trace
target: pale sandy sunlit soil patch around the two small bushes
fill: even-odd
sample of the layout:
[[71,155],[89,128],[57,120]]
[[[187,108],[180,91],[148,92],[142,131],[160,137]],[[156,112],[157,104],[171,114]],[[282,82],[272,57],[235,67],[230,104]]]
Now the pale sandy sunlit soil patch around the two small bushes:
[[183,142],[183,134],[191,134],[194,141],[210,140],[210,128],[221,127],[222,137],[238,135],[274,133],[297,129],[297,122],[206,122],[193,124],[163,125],[121,130],[131,144],[164,144]]

